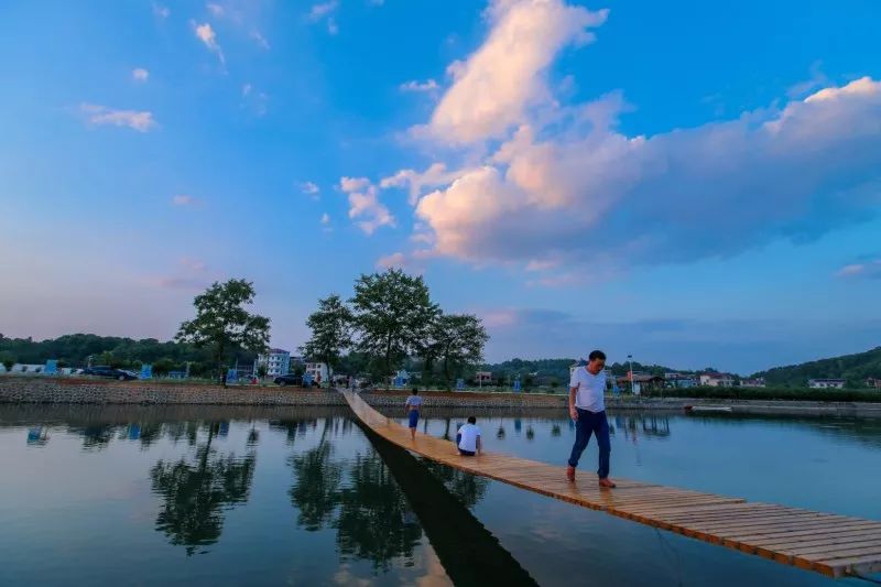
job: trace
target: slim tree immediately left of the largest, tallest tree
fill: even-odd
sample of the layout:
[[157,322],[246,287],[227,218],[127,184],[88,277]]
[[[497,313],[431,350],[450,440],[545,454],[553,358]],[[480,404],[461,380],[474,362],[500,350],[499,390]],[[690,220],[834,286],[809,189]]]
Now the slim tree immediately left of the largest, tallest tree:
[[318,300],[318,309],[306,320],[312,337],[303,350],[307,357],[327,365],[328,385],[342,351],[351,346],[351,311],[336,294]]

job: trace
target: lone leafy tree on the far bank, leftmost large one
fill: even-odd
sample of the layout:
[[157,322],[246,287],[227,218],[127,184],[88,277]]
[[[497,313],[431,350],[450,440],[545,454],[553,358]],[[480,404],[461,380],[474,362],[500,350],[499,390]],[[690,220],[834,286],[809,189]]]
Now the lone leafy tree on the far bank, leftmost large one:
[[[269,318],[243,306],[254,301],[254,286],[246,280],[215,282],[193,301],[196,317],[181,324],[176,340],[210,348],[214,367],[222,378],[227,354],[241,347],[261,352],[269,345]],[[224,384],[226,384],[226,379]]]

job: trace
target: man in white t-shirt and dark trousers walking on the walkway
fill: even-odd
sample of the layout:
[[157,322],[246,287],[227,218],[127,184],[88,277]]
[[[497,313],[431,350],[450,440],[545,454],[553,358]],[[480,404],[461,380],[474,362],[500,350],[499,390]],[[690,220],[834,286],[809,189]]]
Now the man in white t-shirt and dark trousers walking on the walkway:
[[599,476],[600,487],[614,487],[609,479],[609,422],[606,420],[606,354],[594,350],[588,357],[588,363],[577,367],[572,372],[569,381],[569,417],[575,421],[575,444],[569,455],[569,466],[566,468],[566,478],[575,481],[575,467],[581,453],[587,448],[590,435],[597,435],[599,445]]

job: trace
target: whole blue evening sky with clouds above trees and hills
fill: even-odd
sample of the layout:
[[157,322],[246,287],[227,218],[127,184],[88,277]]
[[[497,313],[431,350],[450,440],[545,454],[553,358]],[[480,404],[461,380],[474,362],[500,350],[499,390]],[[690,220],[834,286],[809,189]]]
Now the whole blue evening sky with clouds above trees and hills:
[[825,1],[13,2],[0,331],[276,346],[384,267],[487,358],[738,372],[881,344],[881,12]]

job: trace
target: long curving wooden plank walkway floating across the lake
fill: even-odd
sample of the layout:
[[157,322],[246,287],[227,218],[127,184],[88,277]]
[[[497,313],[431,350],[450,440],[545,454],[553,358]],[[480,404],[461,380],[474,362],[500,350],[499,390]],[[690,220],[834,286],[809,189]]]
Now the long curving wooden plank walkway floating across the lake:
[[600,489],[589,474],[567,481],[563,466],[492,453],[460,457],[453,443],[424,434],[412,441],[407,428],[359,395],[341,393],[358,418],[387,441],[474,475],[829,577],[881,572],[878,521],[623,479],[616,479],[616,489]]

